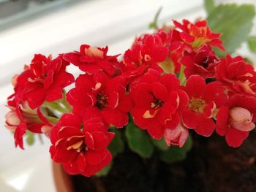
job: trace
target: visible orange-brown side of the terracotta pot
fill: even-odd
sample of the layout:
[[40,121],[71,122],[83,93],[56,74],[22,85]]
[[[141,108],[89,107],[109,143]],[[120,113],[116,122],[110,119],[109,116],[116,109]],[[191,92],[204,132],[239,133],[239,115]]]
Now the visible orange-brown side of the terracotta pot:
[[53,162],[53,179],[57,192],[73,192],[71,177],[64,172],[61,164]]

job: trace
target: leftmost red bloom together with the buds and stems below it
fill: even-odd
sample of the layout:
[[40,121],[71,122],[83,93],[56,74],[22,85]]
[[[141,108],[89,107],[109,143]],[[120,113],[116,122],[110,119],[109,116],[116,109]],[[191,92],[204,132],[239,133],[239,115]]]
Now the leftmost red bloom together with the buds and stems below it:
[[52,60],[50,56],[34,55],[30,66],[12,79],[15,93],[8,97],[11,111],[6,115],[6,125],[15,131],[16,146],[23,149],[26,130],[45,134],[50,131],[52,125],[39,107],[45,101],[61,99],[63,88],[74,81],[72,74],[65,71],[67,64],[61,56]]

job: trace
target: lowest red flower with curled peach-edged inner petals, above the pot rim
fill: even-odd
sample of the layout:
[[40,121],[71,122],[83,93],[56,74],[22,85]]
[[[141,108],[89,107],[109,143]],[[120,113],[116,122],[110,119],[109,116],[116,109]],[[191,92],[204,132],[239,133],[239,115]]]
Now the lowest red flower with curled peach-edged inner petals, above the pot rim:
[[50,134],[51,158],[63,164],[68,174],[90,177],[112,160],[107,147],[115,134],[107,129],[99,118],[91,118],[82,124],[78,116],[64,114]]

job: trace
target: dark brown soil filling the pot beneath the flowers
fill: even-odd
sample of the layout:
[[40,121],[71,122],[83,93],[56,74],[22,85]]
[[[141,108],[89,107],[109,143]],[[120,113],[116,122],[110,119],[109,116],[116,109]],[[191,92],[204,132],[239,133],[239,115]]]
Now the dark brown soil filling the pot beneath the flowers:
[[193,136],[185,161],[165,164],[143,160],[125,150],[118,155],[107,177],[72,176],[75,192],[255,192],[256,133],[238,149],[228,147],[223,137]]

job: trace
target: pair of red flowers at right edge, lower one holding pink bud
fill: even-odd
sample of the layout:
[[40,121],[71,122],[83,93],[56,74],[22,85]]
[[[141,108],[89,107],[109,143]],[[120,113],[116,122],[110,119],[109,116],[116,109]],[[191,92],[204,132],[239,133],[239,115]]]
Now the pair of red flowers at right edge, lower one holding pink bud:
[[216,77],[230,96],[217,114],[217,133],[231,147],[239,147],[255,128],[256,73],[240,56],[227,55],[217,64]]

